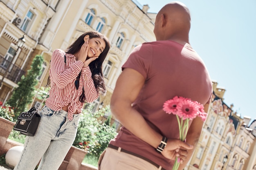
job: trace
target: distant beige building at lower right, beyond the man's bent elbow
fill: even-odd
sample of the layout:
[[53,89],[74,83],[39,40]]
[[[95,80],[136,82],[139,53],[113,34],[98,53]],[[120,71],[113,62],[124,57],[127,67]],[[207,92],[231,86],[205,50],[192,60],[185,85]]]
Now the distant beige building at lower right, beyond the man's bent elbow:
[[[213,82],[207,120],[185,170],[255,170],[256,122],[240,118],[223,102],[224,88]],[[252,129],[253,126],[253,129]]]

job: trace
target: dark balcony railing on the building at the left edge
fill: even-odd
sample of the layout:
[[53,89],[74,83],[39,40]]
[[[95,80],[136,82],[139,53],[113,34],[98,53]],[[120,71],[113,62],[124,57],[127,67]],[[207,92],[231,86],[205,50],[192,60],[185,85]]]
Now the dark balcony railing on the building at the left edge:
[[10,61],[0,56],[0,74],[4,75],[4,73],[7,71],[5,78],[8,78],[10,81],[17,84],[20,81],[21,76],[25,74],[25,71],[13,64],[11,64],[7,70],[9,63]]

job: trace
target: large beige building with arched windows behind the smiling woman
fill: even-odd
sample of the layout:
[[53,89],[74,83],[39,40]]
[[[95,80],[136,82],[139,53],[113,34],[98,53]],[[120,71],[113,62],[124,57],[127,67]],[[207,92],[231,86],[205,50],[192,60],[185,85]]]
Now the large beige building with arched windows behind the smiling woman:
[[[111,48],[103,63],[108,92],[94,102],[94,109],[99,104],[108,105],[121,66],[131,50],[141,43],[155,41],[156,14],[147,13],[148,8],[132,0],[0,1],[0,79],[8,61],[13,59],[2,83],[0,101],[10,98],[13,87],[36,54],[43,55],[46,70],[53,50],[65,49],[84,32],[96,30],[108,37]],[[26,42],[18,49],[17,41],[23,35]],[[39,81],[42,79],[40,76]]]

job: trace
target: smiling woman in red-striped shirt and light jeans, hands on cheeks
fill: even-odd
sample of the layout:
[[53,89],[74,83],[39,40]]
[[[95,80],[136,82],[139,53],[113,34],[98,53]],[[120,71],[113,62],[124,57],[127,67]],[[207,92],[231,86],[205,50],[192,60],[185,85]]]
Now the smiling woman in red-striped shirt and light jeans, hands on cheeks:
[[76,137],[79,113],[85,102],[106,94],[102,63],[109,51],[108,39],[98,32],[81,35],[66,51],[52,54],[51,89],[36,134],[27,136],[14,170],[57,170]]

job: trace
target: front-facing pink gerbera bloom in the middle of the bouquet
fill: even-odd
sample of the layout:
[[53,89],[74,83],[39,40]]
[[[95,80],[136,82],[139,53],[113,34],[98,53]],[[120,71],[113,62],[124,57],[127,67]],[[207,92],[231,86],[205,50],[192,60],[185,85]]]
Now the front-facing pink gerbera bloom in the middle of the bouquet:
[[177,105],[177,115],[183,120],[187,118],[193,120],[198,115],[198,108],[194,102],[184,98],[184,100]]

